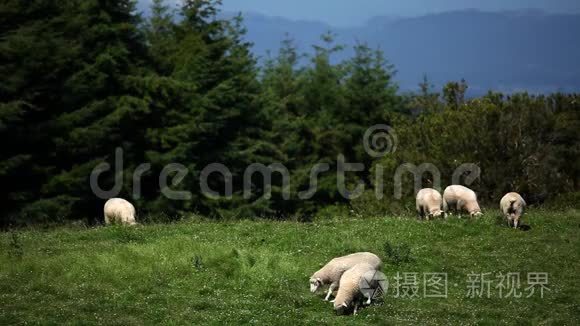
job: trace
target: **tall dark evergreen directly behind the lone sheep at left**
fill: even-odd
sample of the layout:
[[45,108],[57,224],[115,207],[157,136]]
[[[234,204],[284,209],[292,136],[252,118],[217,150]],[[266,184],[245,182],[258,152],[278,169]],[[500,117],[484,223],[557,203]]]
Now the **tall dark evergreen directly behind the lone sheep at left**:
[[[55,120],[59,133],[53,138],[58,170],[42,191],[48,198],[70,196],[75,213],[94,219],[103,201],[89,187],[92,169],[103,159],[113,165],[115,148],[123,148],[126,178],[120,195],[128,197],[130,171],[143,158],[144,131],[138,126],[150,108],[135,96],[134,80],[145,74],[146,49],[133,1],[82,1],[70,10],[82,62],[64,83],[69,112]],[[112,187],[114,181],[110,174],[101,186]]]

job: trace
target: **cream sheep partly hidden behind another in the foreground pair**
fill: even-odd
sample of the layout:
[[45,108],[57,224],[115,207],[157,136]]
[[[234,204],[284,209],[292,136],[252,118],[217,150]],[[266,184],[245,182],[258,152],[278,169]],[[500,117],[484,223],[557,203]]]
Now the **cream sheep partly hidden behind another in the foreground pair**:
[[324,267],[310,277],[310,292],[315,293],[321,286],[329,284],[328,293],[324,301],[328,301],[332,292],[339,287],[342,274],[358,263],[368,263],[374,268],[381,266],[381,259],[370,252],[358,252],[329,261]]

